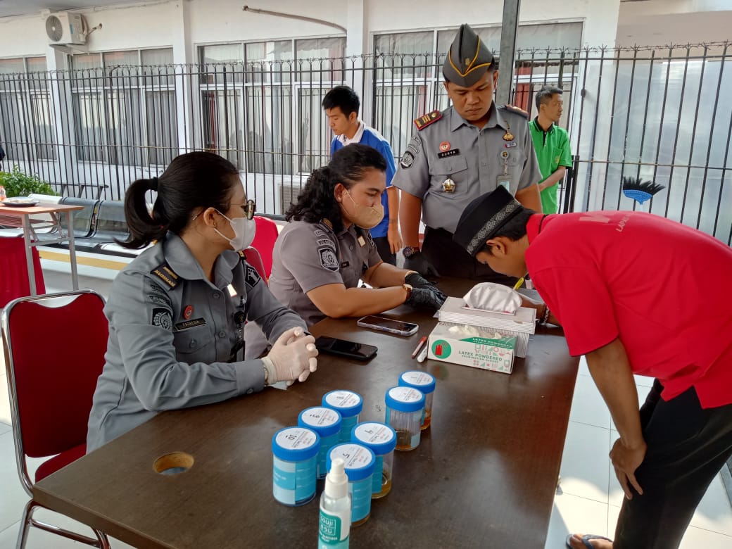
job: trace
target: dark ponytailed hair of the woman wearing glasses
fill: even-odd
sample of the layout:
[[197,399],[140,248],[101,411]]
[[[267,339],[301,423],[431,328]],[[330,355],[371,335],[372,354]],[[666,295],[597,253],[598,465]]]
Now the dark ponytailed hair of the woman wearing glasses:
[[[173,158],[160,177],[138,179],[124,195],[124,217],[130,237],[119,242],[141,248],[165,238],[168,231],[180,234],[193,219],[193,211],[212,207],[228,212],[231,190],[238,182],[234,164],[212,152],[188,152]],[[157,191],[152,215],[145,195]]]

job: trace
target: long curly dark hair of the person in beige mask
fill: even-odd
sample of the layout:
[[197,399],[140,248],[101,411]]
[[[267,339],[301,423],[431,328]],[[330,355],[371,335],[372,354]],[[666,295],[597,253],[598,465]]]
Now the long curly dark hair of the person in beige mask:
[[386,171],[386,160],[373,147],[353,143],[338,149],[328,165],[310,173],[297,202],[285,212],[285,219],[318,223],[325,218],[336,232],[340,232],[343,220],[335,200],[335,186],[341,183],[350,189],[363,179],[369,168]]

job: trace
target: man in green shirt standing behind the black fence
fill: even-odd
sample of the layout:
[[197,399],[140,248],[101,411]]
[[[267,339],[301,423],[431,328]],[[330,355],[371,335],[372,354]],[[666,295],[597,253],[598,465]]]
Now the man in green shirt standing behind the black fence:
[[569,150],[567,130],[556,125],[561,116],[562,90],[556,86],[544,86],[537,91],[538,116],[529,122],[531,138],[539,160],[542,180],[539,191],[545,214],[559,211],[556,202],[556,184],[564,178],[567,168],[572,167],[572,153]]

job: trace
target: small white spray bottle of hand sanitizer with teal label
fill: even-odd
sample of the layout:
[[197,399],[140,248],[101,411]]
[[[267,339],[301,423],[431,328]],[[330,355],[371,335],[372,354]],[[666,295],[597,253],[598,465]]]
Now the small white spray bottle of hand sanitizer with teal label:
[[321,496],[318,549],[347,549],[351,533],[351,495],[348,493],[346,463],[335,458]]

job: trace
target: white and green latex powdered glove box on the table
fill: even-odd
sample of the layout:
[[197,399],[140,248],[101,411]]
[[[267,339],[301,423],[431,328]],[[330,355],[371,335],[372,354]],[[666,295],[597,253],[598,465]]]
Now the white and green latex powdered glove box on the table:
[[[478,335],[460,335],[454,324],[438,323],[430,333],[427,358],[463,366],[511,373],[516,354],[515,335],[496,337],[494,332],[470,326]],[[459,327],[459,326],[458,326]]]

